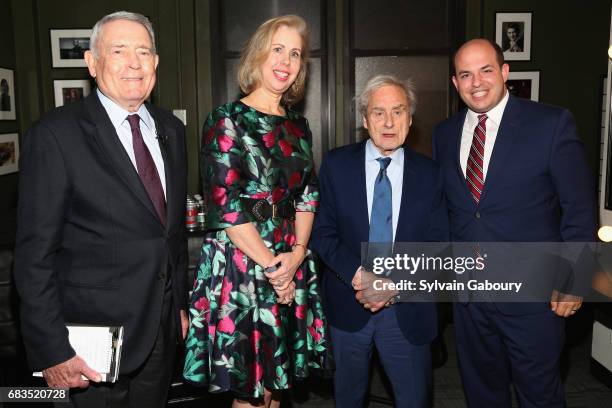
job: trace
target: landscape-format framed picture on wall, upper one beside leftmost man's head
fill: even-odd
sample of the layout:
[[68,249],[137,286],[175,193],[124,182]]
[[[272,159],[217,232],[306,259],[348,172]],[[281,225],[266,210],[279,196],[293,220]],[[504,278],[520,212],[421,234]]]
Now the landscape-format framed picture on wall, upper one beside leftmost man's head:
[[86,67],[83,55],[89,49],[91,29],[50,30],[53,68]]

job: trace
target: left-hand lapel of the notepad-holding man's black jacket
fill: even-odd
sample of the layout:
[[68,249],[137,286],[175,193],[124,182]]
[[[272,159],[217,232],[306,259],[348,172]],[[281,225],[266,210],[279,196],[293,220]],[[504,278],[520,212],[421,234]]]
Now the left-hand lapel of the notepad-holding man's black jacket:
[[108,117],[106,110],[102,106],[102,103],[100,103],[96,92],[93,92],[85,98],[85,106],[95,125],[93,136],[97,140],[98,145],[106,153],[112,170],[117,173],[119,178],[134,193],[138,200],[159,221],[159,217],[149,198],[149,194],[145,190],[138,176],[138,172],[121,144],[119,136],[117,136],[117,131]]

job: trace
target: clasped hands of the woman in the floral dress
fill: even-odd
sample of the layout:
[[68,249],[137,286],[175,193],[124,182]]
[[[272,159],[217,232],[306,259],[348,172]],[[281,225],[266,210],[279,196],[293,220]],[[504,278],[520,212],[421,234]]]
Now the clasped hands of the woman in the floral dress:
[[274,291],[276,301],[281,304],[291,305],[295,299],[295,282],[293,277],[297,268],[306,258],[306,249],[303,246],[295,246],[291,252],[283,252],[276,255],[267,267],[275,266],[274,272],[264,272]]

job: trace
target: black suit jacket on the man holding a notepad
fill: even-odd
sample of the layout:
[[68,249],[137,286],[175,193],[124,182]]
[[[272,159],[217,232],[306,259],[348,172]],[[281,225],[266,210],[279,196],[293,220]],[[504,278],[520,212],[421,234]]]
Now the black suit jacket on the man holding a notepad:
[[155,341],[169,274],[176,318],[186,309],[184,127],[147,109],[163,135],[166,226],[95,92],[23,139],[14,273],[34,370],[74,355],[66,323],[123,325],[121,372],[136,369]]

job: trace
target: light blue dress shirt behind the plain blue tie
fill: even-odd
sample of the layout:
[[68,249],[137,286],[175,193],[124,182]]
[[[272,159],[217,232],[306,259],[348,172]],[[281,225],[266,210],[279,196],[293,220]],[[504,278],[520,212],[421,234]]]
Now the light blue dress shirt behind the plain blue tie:
[[391,182],[391,205],[393,216],[393,241],[395,241],[395,231],[397,229],[397,220],[399,219],[399,210],[402,203],[402,184],[404,181],[404,149],[399,148],[390,156],[383,156],[372,143],[372,140],[366,142],[366,194],[368,199],[368,222],[372,216],[372,197],[374,197],[374,184],[376,176],[380,172],[380,164],[376,160],[379,157],[390,157],[391,163],[387,167],[387,177]]

